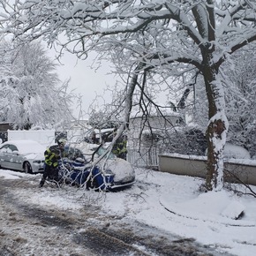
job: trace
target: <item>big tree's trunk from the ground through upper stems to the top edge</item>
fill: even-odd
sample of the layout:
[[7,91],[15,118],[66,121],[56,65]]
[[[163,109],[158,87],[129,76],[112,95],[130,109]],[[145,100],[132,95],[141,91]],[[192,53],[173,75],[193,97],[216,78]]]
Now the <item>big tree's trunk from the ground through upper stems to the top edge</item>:
[[204,76],[208,99],[207,126],[207,190],[221,190],[223,186],[223,149],[226,143],[228,122],[225,115],[224,92],[218,79],[219,64],[215,64],[215,8],[214,1],[207,5],[195,5],[192,9],[200,35],[205,39],[200,44],[202,54],[201,72]]

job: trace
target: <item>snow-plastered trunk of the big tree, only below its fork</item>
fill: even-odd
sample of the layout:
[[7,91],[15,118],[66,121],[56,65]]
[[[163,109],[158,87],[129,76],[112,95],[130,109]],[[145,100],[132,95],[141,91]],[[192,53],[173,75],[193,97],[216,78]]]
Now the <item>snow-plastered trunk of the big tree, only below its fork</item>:
[[[208,58],[209,60],[210,58]],[[223,150],[228,121],[225,115],[224,92],[218,69],[206,64],[203,71],[209,104],[207,126],[207,190],[221,190],[223,186]]]

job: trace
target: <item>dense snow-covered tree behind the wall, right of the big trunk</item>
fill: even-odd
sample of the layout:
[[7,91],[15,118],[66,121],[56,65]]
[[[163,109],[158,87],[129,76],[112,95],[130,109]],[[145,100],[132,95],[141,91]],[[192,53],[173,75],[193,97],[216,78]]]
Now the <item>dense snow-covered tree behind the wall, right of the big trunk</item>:
[[[227,69],[230,83],[227,84],[227,116],[230,122],[228,139],[231,143],[249,150],[256,157],[256,102],[255,102],[255,43],[238,50],[230,59]],[[230,87],[230,84],[232,87]]]

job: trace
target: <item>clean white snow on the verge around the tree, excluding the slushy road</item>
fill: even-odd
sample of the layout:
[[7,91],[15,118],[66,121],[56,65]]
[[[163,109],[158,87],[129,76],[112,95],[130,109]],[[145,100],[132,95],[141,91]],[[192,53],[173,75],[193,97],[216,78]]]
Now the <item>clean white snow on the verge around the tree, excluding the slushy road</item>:
[[[102,206],[102,214],[137,220],[171,233],[193,237],[222,253],[254,256],[256,246],[256,199],[234,192],[199,192],[204,180],[136,169],[137,182],[122,192],[92,192],[71,188],[52,191],[46,185],[25,195],[27,203],[41,207],[79,209],[88,202]],[[1,178],[27,177],[40,180],[41,175],[26,175],[0,169]],[[242,186],[237,189],[243,191]],[[253,191],[256,187],[252,186]],[[22,193],[22,192],[21,192]],[[81,200],[82,199],[82,200]],[[235,220],[239,212],[242,218]],[[223,254],[224,255],[224,254]]]

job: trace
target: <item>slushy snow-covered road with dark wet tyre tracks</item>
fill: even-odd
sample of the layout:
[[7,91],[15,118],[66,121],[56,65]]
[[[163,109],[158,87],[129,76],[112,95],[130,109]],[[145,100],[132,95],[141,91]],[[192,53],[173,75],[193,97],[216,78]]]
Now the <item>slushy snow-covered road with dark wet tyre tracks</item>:
[[[108,194],[49,184],[40,189],[40,175],[8,172],[0,173],[1,256],[230,255],[132,219],[136,208],[129,199],[144,200],[148,185],[158,190],[154,184],[139,181],[132,190]],[[114,215],[109,203],[118,205],[124,194],[126,209]]]

